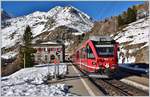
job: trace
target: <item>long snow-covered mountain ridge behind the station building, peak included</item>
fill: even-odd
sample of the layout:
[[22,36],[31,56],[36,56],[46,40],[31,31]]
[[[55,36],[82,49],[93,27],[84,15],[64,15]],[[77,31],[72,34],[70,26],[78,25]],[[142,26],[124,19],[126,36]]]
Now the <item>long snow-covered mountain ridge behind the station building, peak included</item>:
[[[29,25],[33,36],[37,38],[42,33],[47,33],[45,37],[55,34],[55,28],[61,26],[76,30],[75,35],[88,32],[93,26],[91,18],[78,9],[68,7],[54,7],[48,12],[34,12],[27,16],[17,17],[5,20],[7,25],[2,28],[2,47],[11,48],[21,43],[25,27]],[[52,33],[52,32],[53,33]]]

